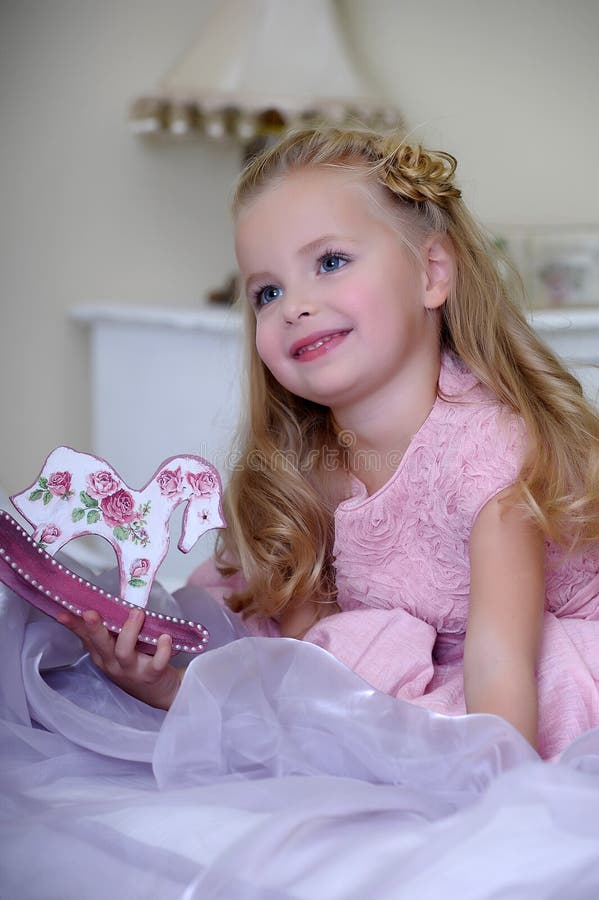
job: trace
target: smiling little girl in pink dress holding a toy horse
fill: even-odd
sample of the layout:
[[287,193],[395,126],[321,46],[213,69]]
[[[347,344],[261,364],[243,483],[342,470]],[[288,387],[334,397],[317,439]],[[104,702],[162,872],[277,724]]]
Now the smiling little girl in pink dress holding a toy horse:
[[[316,129],[234,202],[249,404],[228,529],[192,582],[542,756],[599,725],[599,418],[526,323],[447,153]],[[180,673],[65,616],[125,690]]]

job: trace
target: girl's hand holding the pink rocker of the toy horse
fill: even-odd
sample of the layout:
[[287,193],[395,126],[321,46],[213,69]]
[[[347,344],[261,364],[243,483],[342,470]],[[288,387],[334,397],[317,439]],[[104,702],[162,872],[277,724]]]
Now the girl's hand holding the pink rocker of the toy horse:
[[171,638],[158,638],[153,656],[136,649],[144,622],[142,609],[132,609],[120,634],[102,625],[100,614],[86,610],[82,616],[63,613],[58,621],[82,641],[95,665],[120,688],[158,709],[169,709],[181,684],[183,672],[169,664]]

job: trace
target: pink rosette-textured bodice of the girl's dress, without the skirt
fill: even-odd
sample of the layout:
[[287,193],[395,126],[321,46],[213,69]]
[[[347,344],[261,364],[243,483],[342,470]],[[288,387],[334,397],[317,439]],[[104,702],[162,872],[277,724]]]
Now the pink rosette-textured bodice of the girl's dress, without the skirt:
[[[360,482],[336,512],[335,567],[343,610],[401,608],[438,632],[465,631],[469,540],[477,514],[517,479],[524,426],[447,354],[439,396],[392,478]],[[599,558],[547,545],[547,608],[571,604]],[[596,593],[596,591],[595,591]]]

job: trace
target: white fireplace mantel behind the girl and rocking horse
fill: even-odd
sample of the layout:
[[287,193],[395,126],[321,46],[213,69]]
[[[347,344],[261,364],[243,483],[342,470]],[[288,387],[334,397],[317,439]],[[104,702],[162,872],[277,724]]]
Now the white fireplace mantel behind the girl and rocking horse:
[[[241,407],[241,324],[230,307],[80,306],[91,340],[92,449],[132,487],[178,453],[204,456],[226,479]],[[531,324],[599,396],[599,309],[536,312]],[[597,368],[594,368],[594,367]],[[212,551],[171,548],[161,580],[181,584]]]

